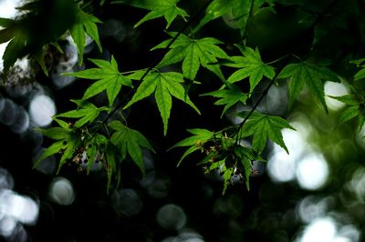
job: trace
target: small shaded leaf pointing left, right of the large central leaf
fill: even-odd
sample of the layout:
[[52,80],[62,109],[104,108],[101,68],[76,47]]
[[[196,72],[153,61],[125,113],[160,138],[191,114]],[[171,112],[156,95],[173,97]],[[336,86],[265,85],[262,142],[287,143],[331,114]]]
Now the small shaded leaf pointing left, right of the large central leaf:
[[234,106],[237,103],[245,105],[245,101],[248,97],[248,95],[243,93],[238,86],[231,86],[231,88],[216,90],[214,92],[203,94],[202,96],[222,98],[214,103],[214,105],[224,105],[221,118],[231,106]]

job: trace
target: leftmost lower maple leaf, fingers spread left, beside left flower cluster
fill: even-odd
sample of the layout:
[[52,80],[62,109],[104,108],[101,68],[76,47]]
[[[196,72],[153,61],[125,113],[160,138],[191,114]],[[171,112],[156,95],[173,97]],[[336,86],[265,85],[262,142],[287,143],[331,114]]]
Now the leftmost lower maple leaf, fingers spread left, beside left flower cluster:
[[57,140],[51,146],[42,153],[39,158],[36,159],[35,166],[39,164],[40,161],[44,160],[48,156],[53,156],[57,153],[61,153],[61,159],[59,161],[57,173],[61,167],[67,162],[68,159],[72,158],[76,148],[80,145],[81,139],[74,129],[70,128],[68,124],[62,120],[57,120],[60,125],[58,127],[51,127],[48,129],[36,128],[36,131],[42,133],[51,139]]

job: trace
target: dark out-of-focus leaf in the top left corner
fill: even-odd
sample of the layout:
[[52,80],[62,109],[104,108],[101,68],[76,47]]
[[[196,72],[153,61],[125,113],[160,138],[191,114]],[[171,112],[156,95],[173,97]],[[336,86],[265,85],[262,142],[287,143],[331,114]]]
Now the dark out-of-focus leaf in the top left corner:
[[0,30],[0,44],[10,41],[3,55],[5,72],[18,58],[42,53],[45,45],[56,41],[75,21],[73,0],[37,0],[18,9],[21,12],[15,20],[0,18],[5,27]]

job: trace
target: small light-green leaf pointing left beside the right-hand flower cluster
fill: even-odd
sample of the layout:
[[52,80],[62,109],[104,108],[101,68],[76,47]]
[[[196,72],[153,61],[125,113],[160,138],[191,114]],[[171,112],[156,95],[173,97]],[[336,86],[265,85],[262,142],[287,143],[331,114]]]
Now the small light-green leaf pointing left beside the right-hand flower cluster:
[[214,132],[211,132],[211,131],[209,131],[207,129],[203,129],[203,128],[188,129],[188,132],[190,134],[192,134],[193,136],[187,137],[187,138],[183,139],[182,141],[179,141],[178,143],[176,143],[175,145],[173,145],[171,148],[168,149],[168,151],[169,151],[175,147],[191,146],[191,147],[189,147],[189,149],[187,149],[185,151],[183,156],[180,158],[177,166],[180,166],[180,164],[182,163],[183,159],[186,156],[192,154],[196,150],[199,150],[205,142],[207,142],[208,140],[210,140],[214,137]]

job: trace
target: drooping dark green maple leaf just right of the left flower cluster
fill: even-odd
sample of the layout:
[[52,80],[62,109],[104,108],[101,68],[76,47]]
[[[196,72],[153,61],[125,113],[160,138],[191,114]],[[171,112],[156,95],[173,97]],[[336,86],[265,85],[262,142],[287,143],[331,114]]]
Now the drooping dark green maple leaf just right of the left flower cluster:
[[122,160],[126,159],[127,155],[139,166],[142,175],[144,176],[144,163],[141,147],[145,147],[154,152],[150,142],[139,131],[124,126],[120,121],[112,121],[109,126],[115,130],[110,137],[111,143],[120,149]]

